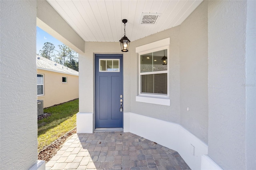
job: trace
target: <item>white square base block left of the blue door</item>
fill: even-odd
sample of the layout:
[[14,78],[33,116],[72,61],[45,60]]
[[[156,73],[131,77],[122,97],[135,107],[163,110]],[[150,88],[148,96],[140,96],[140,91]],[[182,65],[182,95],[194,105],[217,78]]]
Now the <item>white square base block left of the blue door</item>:
[[93,133],[93,113],[76,113],[76,132]]

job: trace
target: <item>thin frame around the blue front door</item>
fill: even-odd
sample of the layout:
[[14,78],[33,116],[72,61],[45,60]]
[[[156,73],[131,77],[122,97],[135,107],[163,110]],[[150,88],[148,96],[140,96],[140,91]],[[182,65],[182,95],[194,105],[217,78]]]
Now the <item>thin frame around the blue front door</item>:
[[[97,66],[96,66],[96,64],[97,64],[97,59],[98,59],[97,56],[104,56],[104,57],[109,56],[106,59],[114,59],[111,56],[120,56],[122,58],[122,59],[120,59],[119,65],[120,65],[120,72],[122,72],[122,95],[124,94],[124,69],[123,69],[123,65],[124,65],[123,64],[124,63],[123,57],[124,57],[124,55],[123,54],[116,54],[116,53],[115,54],[94,53],[94,96],[95,96],[95,98],[94,98],[94,102],[95,102],[94,103],[94,111],[95,111],[95,121],[94,121],[95,125],[94,125],[94,128],[95,129],[97,128],[97,105],[96,105],[96,103],[97,103],[97,96],[96,96],[96,90],[97,90],[97,87],[96,87],[97,86],[97,84],[96,84],[96,72],[97,72],[97,70],[96,69],[97,69]],[[122,100],[123,100],[122,107],[124,108],[124,97],[122,97]],[[122,112],[122,127],[119,127],[119,128],[124,128],[124,111]]]

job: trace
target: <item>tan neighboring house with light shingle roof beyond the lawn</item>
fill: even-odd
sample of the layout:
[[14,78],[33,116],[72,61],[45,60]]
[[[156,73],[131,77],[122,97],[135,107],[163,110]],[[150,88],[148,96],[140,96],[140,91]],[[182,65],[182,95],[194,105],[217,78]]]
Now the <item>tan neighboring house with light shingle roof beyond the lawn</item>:
[[37,99],[44,107],[78,98],[78,71],[36,56]]

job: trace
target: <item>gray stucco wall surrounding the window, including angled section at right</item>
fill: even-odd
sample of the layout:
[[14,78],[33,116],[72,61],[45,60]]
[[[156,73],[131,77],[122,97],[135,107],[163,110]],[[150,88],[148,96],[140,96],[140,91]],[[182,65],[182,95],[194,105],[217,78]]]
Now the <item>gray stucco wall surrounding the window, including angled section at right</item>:
[[[179,123],[208,142],[208,29],[207,2],[180,25],[130,44],[131,112]],[[170,37],[170,106],[136,102],[138,56],[135,48]],[[187,107],[190,111],[187,111]]]

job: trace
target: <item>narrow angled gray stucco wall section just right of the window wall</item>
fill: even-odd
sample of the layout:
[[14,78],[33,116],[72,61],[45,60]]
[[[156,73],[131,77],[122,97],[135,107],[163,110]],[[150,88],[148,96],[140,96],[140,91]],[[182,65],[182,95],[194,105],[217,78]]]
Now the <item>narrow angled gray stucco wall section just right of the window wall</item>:
[[180,124],[206,143],[208,143],[207,5],[208,1],[202,2],[180,25]]

